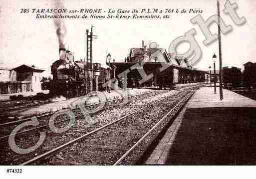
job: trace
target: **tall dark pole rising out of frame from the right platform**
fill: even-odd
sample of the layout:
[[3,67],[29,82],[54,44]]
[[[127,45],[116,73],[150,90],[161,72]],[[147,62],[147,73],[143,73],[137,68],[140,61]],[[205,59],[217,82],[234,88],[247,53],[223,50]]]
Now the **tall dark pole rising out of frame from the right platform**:
[[222,88],[222,42],[221,42],[221,16],[220,16],[220,1],[217,0],[218,8],[218,37],[219,37],[219,57],[220,57],[220,100],[223,100],[223,88]]

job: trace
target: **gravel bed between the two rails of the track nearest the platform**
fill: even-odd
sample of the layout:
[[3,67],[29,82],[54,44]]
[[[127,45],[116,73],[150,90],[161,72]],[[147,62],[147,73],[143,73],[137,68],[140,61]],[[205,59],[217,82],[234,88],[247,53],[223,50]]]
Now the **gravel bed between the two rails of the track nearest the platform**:
[[[37,164],[113,165],[188,93],[190,92],[183,91],[172,96],[170,95],[167,99],[61,150],[55,156],[44,161],[38,161]],[[159,128],[156,131],[159,132],[158,130]],[[124,160],[124,164],[133,164],[138,156],[143,154],[143,151],[157,132],[149,136],[146,143],[139,145],[135,152]]]

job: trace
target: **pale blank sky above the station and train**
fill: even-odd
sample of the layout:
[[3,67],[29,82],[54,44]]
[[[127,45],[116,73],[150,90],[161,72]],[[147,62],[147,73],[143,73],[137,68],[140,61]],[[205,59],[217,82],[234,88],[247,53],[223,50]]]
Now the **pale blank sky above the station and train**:
[[[62,0],[65,8],[186,8],[203,10],[200,13],[206,20],[217,14],[216,0]],[[256,0],[230,0],[239,6],[237,13],[247,22],[237,26],[230,16],[222,11],[226,0],[220,0],[221,16],[233,31],[222,35],[223,66],[236,66],[243,69],[247,61],[256,62]],[[59,59],[59,44],[56,26],[52,19],[36,19],[35,13],[20,13],[21,8],[55,8],[55,0],[0,0],[0,66],[16,67],[21,64],[35,65],[50,75],[51,64]],[[129,48],[141,47],[142,40],[157,42],[159,47],[168,50],[170,43],[187,31],[195,28],[195,38],[203,52],[194,68],[208,70],[213,66],[212,56],[218,55],[218,41],[205,46],[204,34],[190,19],[198,13],[171,14],[169,19],[65,19],[66,47],[75,55],[75,60],[86,56],[85,30],[93,25],[93,62],[106,67],[106,52],[116,62],[124,61]],[[218,33],[216,24],[210,27]],[[189,49],[189,44],[181,44],[179,53]],[[219,68],[217,61],[216,67]]]

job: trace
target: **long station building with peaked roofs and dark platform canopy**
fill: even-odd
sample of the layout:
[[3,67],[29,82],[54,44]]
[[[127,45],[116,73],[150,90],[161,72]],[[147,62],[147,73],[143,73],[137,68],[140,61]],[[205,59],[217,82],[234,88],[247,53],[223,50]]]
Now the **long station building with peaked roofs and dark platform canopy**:
[[124,62],[113,61],[107,65],[112,68],[111,77],[126,77],[128,86],[133,79],[137,84],[140,81],[141,86],[205,82],[207,73],[193,69],[186,58],[173,57],[164,48],[148,48],[143,44],[141,48],[130,48]]

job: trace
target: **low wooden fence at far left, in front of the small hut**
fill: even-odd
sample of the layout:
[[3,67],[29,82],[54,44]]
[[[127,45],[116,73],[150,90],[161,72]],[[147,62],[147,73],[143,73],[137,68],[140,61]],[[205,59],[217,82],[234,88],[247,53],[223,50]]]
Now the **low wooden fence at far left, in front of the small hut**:
[[29,81],[7,81],[0,82],[0,94],[22,93],[31,91]]

